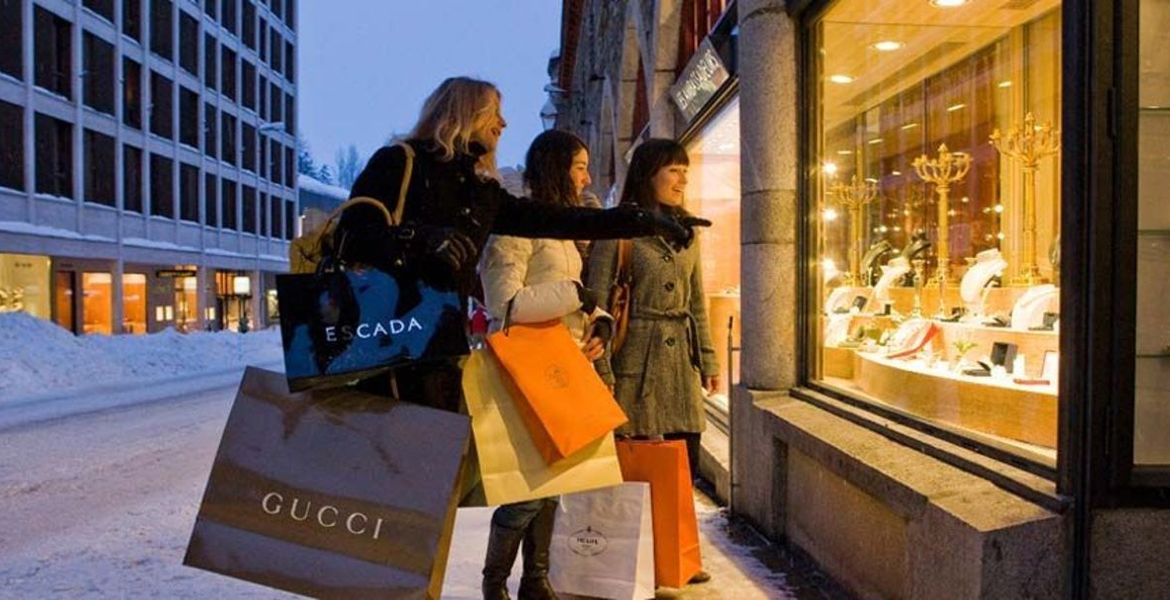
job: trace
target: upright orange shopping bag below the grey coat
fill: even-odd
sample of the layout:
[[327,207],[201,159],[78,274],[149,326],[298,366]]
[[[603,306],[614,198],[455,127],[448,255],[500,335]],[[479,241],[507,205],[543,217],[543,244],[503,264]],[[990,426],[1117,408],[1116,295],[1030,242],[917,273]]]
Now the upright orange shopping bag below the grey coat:
[[682,587],[703,564],[698,556],[698,520],[690,489],[687,442],[619,440],[618,462],[626,481],[651,484],[654,516],[654,582]]

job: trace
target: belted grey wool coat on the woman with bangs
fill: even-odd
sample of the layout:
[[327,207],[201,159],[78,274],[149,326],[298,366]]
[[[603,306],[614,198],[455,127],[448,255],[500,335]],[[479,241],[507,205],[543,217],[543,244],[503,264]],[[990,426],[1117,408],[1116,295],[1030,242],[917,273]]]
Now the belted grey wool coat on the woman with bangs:
[[[628,435],[702,432],[707,428],[700,375],[717,375],[703,297],[698,242],[682,250],[661,237],[632,241],[632,303],[625,345],[597,361],[629,416]],[[617,277],[618,241],[594,242],[589,288],[608,310]]]

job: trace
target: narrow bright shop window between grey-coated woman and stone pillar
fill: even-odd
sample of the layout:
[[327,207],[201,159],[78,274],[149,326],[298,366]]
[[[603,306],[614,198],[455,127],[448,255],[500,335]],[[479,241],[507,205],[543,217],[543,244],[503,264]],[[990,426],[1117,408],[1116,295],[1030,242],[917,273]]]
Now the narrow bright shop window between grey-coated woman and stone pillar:
[[[731,99],[687,145],[687,209],[714,225],[700,239],[703,291],[720,381],[730,386],[729,342],[739,345],[739,99]],[[731,327],[731,329],[729,329]],[[715,398],[727,409],[728,391]]]

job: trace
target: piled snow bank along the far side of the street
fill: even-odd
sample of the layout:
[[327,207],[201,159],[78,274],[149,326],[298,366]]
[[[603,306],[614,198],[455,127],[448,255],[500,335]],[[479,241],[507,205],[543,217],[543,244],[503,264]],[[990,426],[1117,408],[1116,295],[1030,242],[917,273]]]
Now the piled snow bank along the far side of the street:
[[74,336],[23,312],[0,313],[0,401],[280,360],[276,329]]

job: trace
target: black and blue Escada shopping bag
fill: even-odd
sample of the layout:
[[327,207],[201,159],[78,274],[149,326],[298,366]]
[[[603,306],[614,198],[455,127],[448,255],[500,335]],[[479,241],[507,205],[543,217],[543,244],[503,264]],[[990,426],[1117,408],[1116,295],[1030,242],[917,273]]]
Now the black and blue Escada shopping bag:
[[459,294],[378,269],[277,275],[289,389],[336,387],[467,354]]

